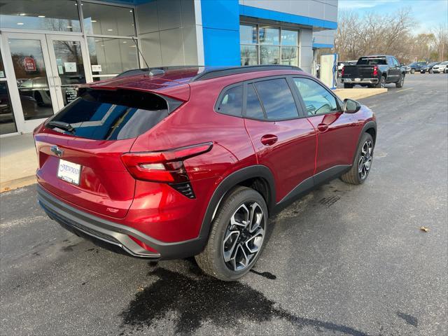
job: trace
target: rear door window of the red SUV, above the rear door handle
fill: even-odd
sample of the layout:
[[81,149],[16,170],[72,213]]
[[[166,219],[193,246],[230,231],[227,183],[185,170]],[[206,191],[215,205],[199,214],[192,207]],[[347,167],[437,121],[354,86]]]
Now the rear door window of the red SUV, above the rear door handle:
[[295,106],[293,94],[285,78],[263,80],[254,83],[266,116],[271,120],[297,118],[297,107]]

